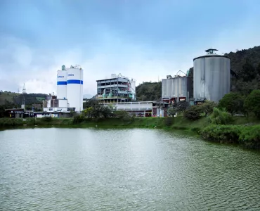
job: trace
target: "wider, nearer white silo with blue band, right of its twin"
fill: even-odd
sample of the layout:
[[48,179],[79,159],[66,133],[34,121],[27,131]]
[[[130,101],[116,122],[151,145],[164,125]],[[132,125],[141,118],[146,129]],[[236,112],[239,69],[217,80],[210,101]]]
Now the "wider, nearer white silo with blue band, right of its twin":
[[83,70],[67,69],[67,103],[79,112],[83,110]]

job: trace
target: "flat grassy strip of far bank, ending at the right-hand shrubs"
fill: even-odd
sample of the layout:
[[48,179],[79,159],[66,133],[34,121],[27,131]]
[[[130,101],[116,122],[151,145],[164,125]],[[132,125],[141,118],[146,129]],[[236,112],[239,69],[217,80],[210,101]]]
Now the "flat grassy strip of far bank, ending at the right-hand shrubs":
[[27,118],[22,119],[1,118],[0,127],[35,127],[35,126],[58,126],[58,127],[138,127],[138,128],[161,128],[161,129],[197,129],[204,127],[207,120],[202,118],[197,121],[189,121],[183,117],[139,117],[139,118],[110,118],[110,119],[84,119],[75,121],[73,118]]

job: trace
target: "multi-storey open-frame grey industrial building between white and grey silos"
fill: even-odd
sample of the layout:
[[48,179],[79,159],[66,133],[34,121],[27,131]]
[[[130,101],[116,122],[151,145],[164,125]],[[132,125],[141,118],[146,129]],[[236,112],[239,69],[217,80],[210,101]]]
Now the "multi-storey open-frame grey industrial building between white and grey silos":
[[136,100],[136,81],[121,74],[97,80],[96,99],[102,103],[122,103]]

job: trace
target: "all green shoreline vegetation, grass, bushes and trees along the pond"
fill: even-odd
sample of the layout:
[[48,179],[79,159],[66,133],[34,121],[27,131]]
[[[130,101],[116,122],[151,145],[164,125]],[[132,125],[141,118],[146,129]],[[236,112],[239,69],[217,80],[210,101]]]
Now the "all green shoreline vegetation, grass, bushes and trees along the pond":
[[[254,90],[246,98],[227,94],[216,104],[206,101],[201,105],[176,106],[169,109],[170,117],[134,117],[124,110],[115,110],[90,101],[81,115],[72,118],[0,118],[1,128],[17,127],[101,127],[151,128],[186,130],[207,141],[237,143],[245,148],[260,148],[260,91]],[[232,106],[230,106],[232,105]],[[244,112],[246,115],[237,115]],[[173,115],[177,113],[176,117]]]

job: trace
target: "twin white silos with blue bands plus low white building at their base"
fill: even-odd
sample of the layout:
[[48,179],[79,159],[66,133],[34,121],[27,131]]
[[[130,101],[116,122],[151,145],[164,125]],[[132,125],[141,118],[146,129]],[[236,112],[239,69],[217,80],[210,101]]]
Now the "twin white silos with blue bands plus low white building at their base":
[[44,112],[83,110],[83,70],[78,65],[57,71],[57,96],[49,96],[43,102]]

